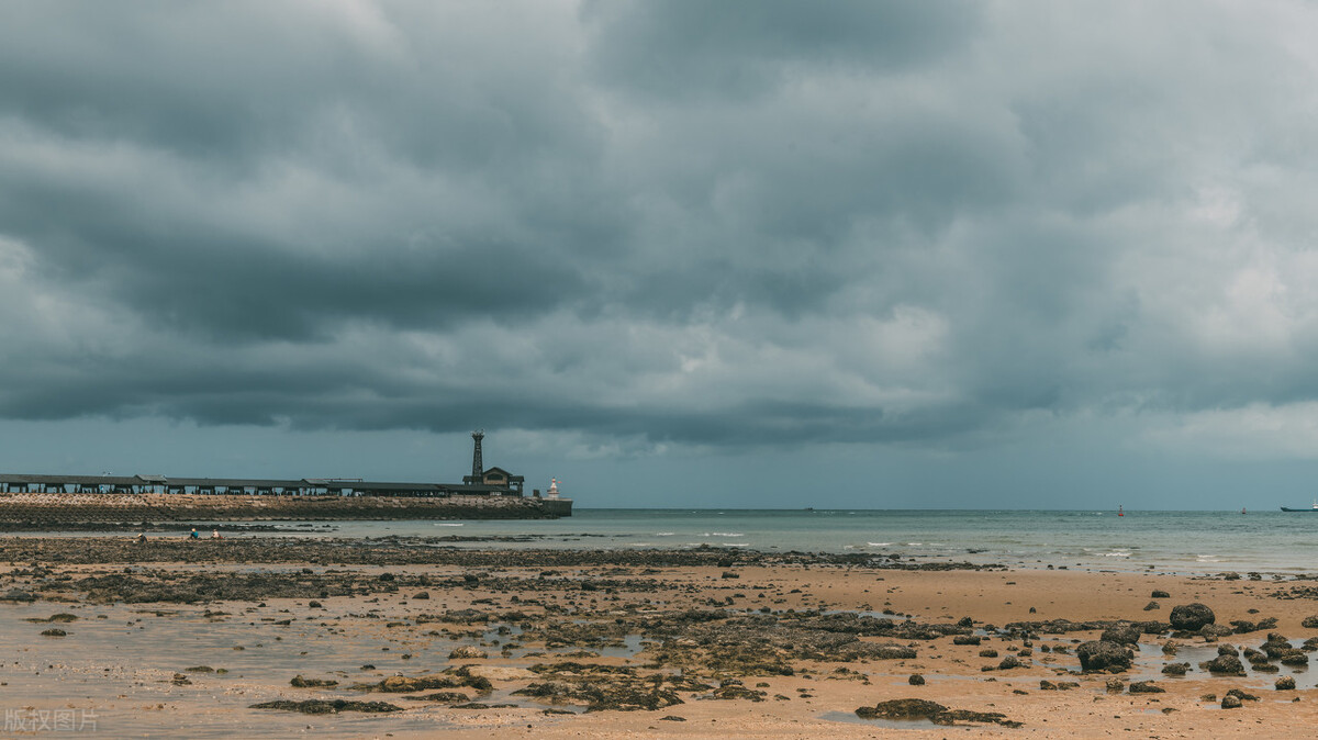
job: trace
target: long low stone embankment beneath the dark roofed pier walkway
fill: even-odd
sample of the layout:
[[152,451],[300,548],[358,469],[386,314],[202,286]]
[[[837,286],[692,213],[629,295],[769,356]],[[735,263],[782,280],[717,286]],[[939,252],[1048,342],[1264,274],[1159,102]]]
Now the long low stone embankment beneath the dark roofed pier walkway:
[[0,494],[0,523],[316,521],[343,519],[552,519],[519,496],[240,496],[199,494]]

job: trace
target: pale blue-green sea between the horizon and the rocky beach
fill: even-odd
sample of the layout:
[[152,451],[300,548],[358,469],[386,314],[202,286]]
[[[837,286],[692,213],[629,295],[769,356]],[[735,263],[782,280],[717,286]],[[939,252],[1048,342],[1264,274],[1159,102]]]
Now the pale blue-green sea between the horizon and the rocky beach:
[[[337,521],[290,536],[438,537],[456,548],[728,548],[863,553],[905,562],[1302,575],[1318,514],[1282,511],[874,511],[579,508],[554,520]],[[240,535],[241,536],[241,535]]]

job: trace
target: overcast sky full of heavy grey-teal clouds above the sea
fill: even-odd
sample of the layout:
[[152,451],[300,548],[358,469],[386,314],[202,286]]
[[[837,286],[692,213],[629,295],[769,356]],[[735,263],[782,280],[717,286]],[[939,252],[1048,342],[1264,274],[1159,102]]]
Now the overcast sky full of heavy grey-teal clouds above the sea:
[[1318,7],[8,4],[0,469],[1318,494]]

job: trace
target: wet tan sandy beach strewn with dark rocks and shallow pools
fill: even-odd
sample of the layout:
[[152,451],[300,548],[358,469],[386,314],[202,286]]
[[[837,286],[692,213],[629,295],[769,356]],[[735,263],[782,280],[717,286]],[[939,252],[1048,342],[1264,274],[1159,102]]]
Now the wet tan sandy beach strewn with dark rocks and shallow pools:
[[[1304,648],[1318,583],[1290,577],[24,537],[0,539],[0,703],[7,722],[32,720],[5,735],[42,711],[148,737],[1264,737],[1318,720]],[[1173,607],[1189,603],[1215,627],[1173,633]],[[1082,673],[1077,648],[1123,624],[1136,625],[1131,668]],[[1242,656],[1244,675],[1201,668],[1222,645],[1263,650],[1269,633],[1288,643],[1253,665]],[[1277,690],[1282,677],[1297,689]],[[1141,681],[1162,691],[1131,693]],[[1232,689],[1257,698],[1222,708]],[[979,714],[857,715],[892,699]],[[340,711],[252,708],[308,700]]]

